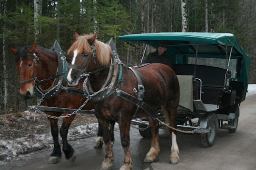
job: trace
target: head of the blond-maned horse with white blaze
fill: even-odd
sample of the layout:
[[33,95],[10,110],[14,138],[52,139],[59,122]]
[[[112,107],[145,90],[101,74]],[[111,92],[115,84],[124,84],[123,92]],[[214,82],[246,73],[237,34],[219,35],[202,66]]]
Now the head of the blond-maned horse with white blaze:
[[109,45],[96,40],[94,35],[74,34],[74,42],[68,49],[71,64],[67,73],[67,83],[70,86],[78,84],[80,75],[108,65],[111,57]]

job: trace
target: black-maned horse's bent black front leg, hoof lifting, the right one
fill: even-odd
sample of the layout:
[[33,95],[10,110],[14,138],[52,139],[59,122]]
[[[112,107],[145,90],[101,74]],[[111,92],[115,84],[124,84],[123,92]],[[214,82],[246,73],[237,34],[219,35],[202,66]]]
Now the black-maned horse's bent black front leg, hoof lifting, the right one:
[[60,127],[60,136],[61,136],[62,144],[63,144],[62,151],[65,154],[65,158],[72,163],[75,161],[76,156],[75,156],[73,148],[67,142],[67,133],[68,133],[68,128],[69,128],[70,124],[72,123],[74,117],[75,117],[75,115],[72,115],[68,118],[64,118],[62,125]]

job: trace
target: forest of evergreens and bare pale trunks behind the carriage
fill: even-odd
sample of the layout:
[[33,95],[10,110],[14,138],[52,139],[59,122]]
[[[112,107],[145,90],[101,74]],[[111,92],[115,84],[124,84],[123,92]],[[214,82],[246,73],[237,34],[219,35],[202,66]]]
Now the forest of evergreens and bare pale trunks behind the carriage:
[[[19,94],[19,73],[8,47],[58,40],[65,56],[74,32],[106,42],[121,61],[138,65],[141,50],[118,36],[149,32],[228,32],[250,56],[249,83],[256,83],[256,0],[0,0],[0,114],[22,112],[36,98]],[[139,47],[140,48],[140,47]],[[153,50],[153,49],[149,49]],[[149,52],[149,51],[148,51]]]

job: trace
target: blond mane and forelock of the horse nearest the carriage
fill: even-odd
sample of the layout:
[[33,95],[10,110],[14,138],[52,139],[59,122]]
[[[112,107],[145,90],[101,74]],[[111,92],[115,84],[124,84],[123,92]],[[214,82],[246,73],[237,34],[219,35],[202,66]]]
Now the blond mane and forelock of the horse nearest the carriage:
[[[83,55],[85,52],[88,54],[88,56],[91,55],[91,47],[89,44],[90,38],[93,36],[93,34],[83,34],[78,36],[77,39],[75,39],[74,43],[71,45],[71,47],[68,49],[68,53],[77,50],[78,55]],[[99,63],[100,66],[107,66],[109,65],[110,59],[111,59],[111,47],[101,41],[94,40],[92,45],[95,46],[95,53],[96,53],[96,60]]]

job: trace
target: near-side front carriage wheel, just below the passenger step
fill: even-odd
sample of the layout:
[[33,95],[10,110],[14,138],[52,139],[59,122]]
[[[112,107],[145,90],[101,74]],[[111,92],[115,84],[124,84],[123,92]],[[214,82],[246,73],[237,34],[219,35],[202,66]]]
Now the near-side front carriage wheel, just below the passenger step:
[[215,114],[211,114],[207,122],[209,132],[200,135],[202,146],[211,147],[213,145],[217,134],[217,126],[217,116]]

